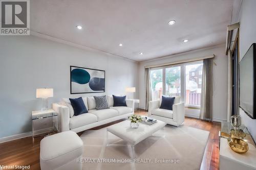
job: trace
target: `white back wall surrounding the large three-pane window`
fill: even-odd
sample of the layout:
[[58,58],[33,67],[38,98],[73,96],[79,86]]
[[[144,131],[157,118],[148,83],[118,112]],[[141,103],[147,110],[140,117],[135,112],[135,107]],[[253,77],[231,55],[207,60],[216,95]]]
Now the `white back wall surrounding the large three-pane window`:
[[[225,55],[225,44],[204,48],[179,55],[164,57],[157,60],[140,62],[139,64],[139,96],[140,108],[145,109],[145,85],[144,66],[164,64],[179,60],[198,58],[215,54],[214,58],[214,96],[213,96],[213,119],[222,121],[227,119],[227,56]],[[199,115],[199,110],[186,109],[186,114]]]

